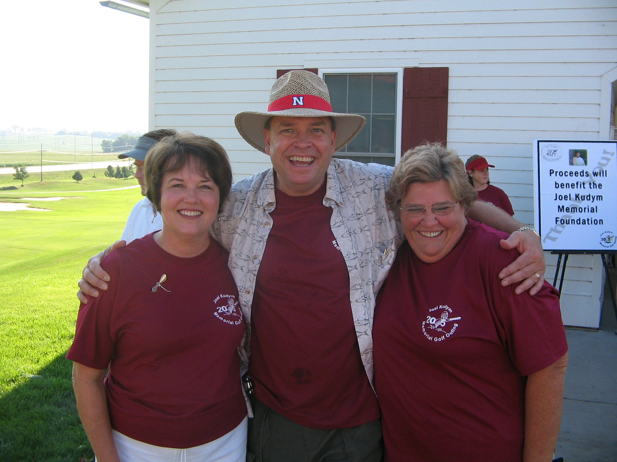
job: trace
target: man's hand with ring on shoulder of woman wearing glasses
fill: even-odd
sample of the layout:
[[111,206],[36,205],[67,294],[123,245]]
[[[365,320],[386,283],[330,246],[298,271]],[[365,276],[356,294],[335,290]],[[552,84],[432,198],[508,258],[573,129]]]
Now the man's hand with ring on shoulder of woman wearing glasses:
[[530,295],[537,294],[544,285],[546,261],[542,243],[536,233],[531,230],[515,231],[509,238],[502,239],[500,245],[506,250],[516,248],[521,254],[499,272],[502,286],[522,281],[516,287],[516,294],[521,294],[526,290],[529,290]]

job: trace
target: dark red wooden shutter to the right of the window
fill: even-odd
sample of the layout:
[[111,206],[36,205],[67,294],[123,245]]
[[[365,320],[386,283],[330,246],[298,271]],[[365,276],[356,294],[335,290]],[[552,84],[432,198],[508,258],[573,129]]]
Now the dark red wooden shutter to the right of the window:
[[411,67],[403,74],[402,153],[423,142],[445,146],[448,128],[447,67]]

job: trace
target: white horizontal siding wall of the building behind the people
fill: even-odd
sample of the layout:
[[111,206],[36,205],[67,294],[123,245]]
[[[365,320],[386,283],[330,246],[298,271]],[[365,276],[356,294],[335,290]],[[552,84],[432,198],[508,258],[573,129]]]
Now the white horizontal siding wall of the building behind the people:
[[[150,4],[150,128],[172,126],[217,139],[230,153],[236,178],[269,163],[239,137],[234,115],[263,110],[281,68],[449,67],[448,145],[463,158],[489,158],[497,166],[492,183],[508,193],[516,218],[528,224],[532,140],[608,136],[600,107],[610,99],[601,91],[602,75],[617,65],[614,0]],[[581,300],[598,305],[598,262],[569,259],[566,324],[597,326],[599,313],[582,322],[575,307]]]

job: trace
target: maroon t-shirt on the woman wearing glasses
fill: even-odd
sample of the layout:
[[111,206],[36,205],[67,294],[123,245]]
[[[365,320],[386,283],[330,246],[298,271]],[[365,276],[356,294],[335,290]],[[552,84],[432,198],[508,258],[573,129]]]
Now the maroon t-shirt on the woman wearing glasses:
[[557,291],[502,287],[518,256],[470,220],[438,262],[405,242],[373,325],[384,462],[520,462],[526,377],[568,350]]

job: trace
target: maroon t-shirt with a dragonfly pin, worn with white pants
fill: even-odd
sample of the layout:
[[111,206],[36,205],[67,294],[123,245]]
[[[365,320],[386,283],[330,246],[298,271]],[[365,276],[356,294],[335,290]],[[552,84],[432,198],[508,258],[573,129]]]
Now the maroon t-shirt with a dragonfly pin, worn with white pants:
[[105,388],[118,432],[188,448],[225,435],[246,416],[237,351],[244,320],[227,259],[213,240],[199,256],[176,257],[152,234],[103,259],[109,289],[81,306],[67,358],[109,365]]

